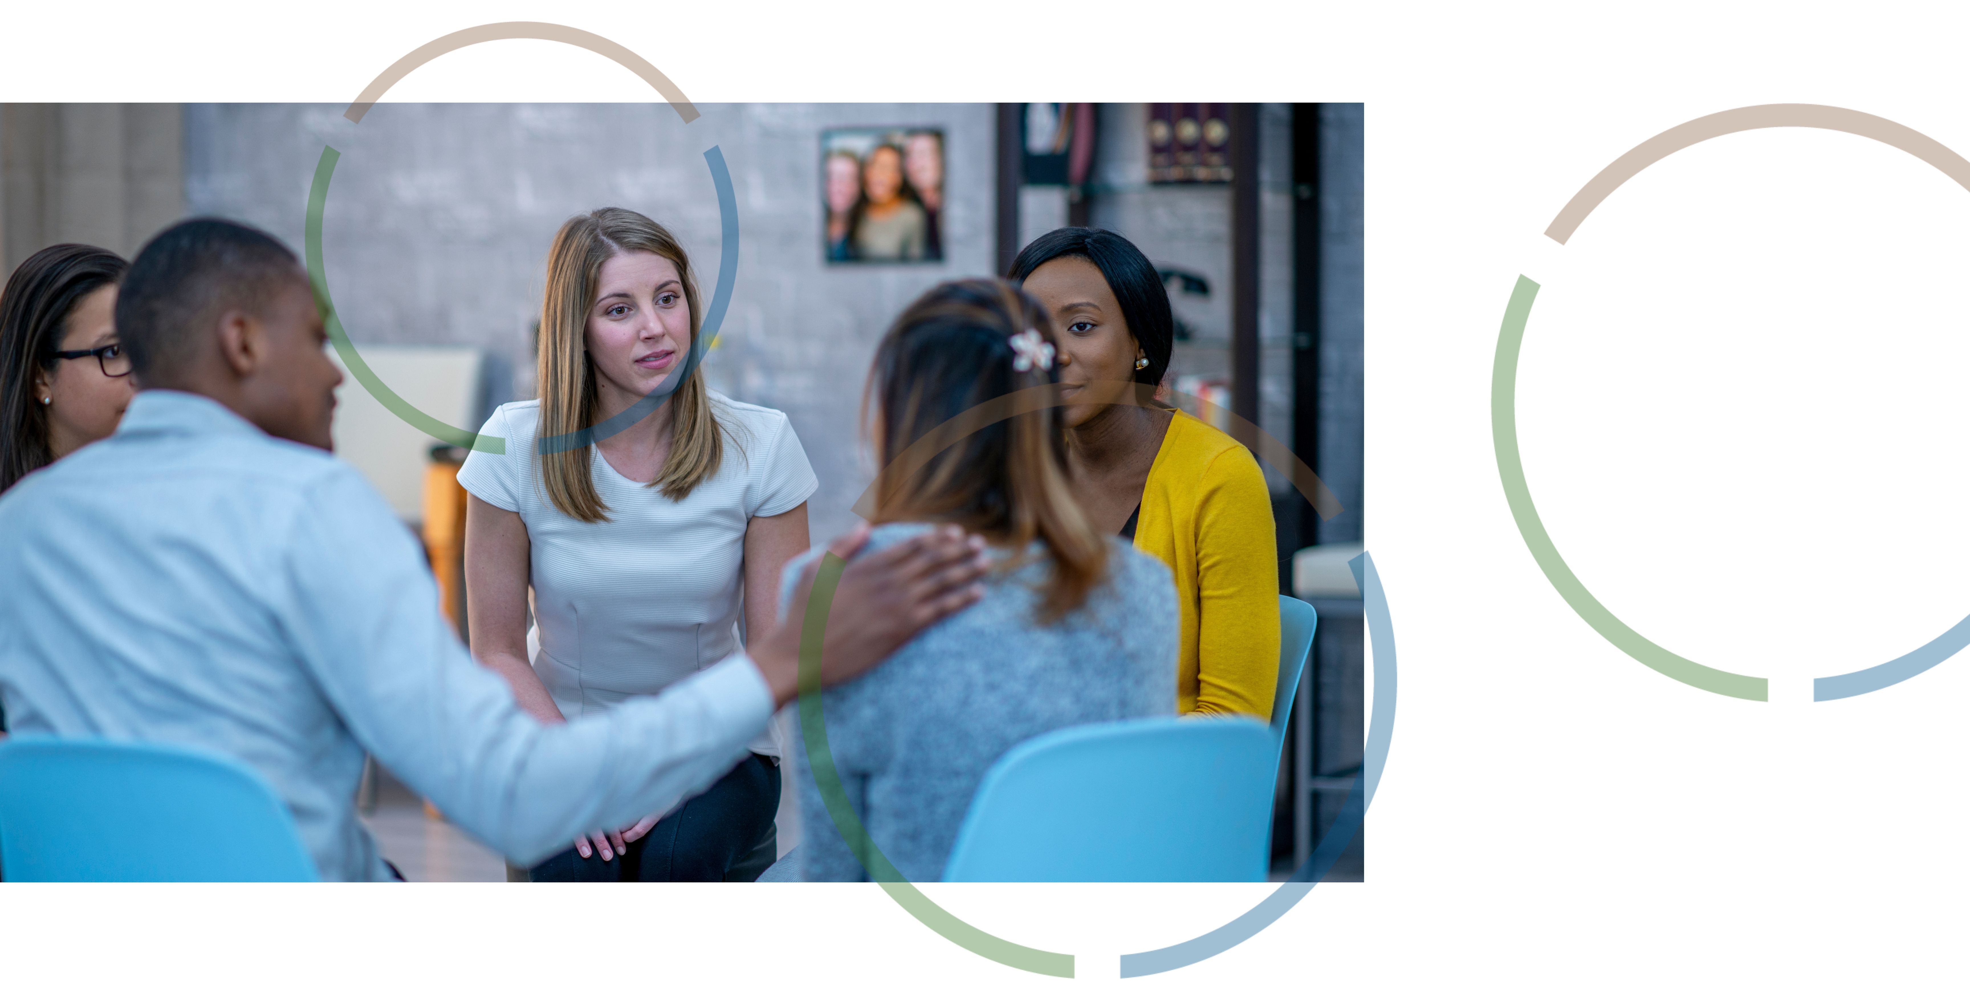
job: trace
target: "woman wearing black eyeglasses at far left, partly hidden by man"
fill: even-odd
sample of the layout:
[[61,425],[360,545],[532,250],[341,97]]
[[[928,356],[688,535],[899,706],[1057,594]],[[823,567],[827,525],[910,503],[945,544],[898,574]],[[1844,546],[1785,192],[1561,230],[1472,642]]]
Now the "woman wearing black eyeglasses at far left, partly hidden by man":
[[30,256],[0,290],[0,492],[108,437],[130,406],[136,380],[112,319],[128,266],[65,242]]

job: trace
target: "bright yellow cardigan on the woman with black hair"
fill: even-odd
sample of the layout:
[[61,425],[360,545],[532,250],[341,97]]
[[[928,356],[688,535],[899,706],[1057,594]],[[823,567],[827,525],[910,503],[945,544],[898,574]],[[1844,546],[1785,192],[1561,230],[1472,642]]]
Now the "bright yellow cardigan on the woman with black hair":
[[1259,461],[1174,412],[1149,467],[1135,546],[1176,575],[1176,713],[1271,719],[1279,684],[1279,544]]

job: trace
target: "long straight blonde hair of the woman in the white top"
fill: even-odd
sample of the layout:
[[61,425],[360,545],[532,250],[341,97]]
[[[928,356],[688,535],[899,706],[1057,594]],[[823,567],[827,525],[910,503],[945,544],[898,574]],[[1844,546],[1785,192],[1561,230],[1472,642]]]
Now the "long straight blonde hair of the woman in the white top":
[[[623,252],[648,252],[678,266],[684,303],[691,311],[691,349],[703,305],[691,260],[668,229],[628,209],[595,209],[561,225],[548,248],[548,290],[540,305],[540,435],[569,435],[595,422],[595,364],[583,339],[595,305],[603,262]],[[680,364],[680,370],[686,364]],[[668,382],[668,380],[666,380]],[[711,412],[705,378],[691,372],[670,394],[670,455],[650,489],[672,500],[691,494],[717,475],[725,451],[725,424]],[[540,483],[554,508],[583,522],[609,520],[609,506],[595,492],[593,441],[540,455]]]

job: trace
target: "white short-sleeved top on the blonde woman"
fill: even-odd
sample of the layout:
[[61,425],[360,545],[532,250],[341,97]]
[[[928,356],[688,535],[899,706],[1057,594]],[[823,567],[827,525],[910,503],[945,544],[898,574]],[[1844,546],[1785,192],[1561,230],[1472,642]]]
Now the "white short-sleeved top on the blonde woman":
[[[534,453],[540,402],[492,412],[485,433],[504,455],[473,451],[459,485],[520,514],[532,552],[534,674],[567,721],[626,697],[658,693],[739,652],[745,530],[814,494],[820,481],[786,414],[711,394],[729,427],[719,471],[674,502],[589,453],[609,520],[554,508]],[[755,753],[778,756],[772,735]]]

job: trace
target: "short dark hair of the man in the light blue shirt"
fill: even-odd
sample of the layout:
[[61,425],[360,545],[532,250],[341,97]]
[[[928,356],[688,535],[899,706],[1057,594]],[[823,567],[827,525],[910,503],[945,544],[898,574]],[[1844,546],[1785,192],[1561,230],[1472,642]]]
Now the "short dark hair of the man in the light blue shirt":
[[191,353],[197,331],[229,309],[264,313],[301,274],[294,250],[225,219],[185,219],[144,244],[116,296],[130,368],[152,382]]

